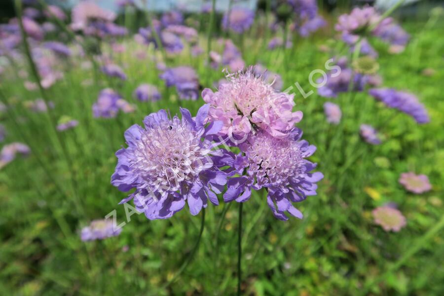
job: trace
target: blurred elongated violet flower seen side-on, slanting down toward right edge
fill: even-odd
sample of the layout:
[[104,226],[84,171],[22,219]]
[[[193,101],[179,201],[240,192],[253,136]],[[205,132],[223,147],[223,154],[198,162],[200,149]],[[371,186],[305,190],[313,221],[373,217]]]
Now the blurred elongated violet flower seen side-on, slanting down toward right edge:
[[369,94],[386,106],[410,115],[417,123],[430,122],[429,114],[424,105],[411,93],[397,91],[393,88],[373,88],[370,89]]

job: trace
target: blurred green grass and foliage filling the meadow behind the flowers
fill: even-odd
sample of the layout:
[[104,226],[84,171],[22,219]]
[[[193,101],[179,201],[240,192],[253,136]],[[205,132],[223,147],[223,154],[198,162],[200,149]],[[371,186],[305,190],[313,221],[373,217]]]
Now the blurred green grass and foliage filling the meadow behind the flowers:
[[[245,40],[247,65],[260,62],[281,74],[284,89],[297,81],[305,92],[315,91],[306,99],[296,93],[295,100],[304,112],[299,124],[304,139],[318,148],[311,160],[325,174],[318,195],[298,205],[303,220],[273,218],[264,191],[245,203],[241,285],[245,295],[443,294],[444,30],[441,24],[422,31],[423,24],[417,22],[404,27],[412,40],[402,54],[390,55],[386,45],[376,41],[379,74],[384,86],[418,95],[432,118],[426,125],[384,108],[365,92],[341,94],[334,102],[341,106],[343,119],[339,126],[329,125],[322,108],[327,100],[308,82],[309,73],[324,69],[331,58],[318,50],[326,35],[332,36],[329,33],[296,40],[295,47],[285,52],[262,50],[260,39]],[[23,104],[40,97],[38,91],[25,90],[22,78],[2,77],[0,99],[10,106],[0,115],[8,131],[4,143],[20,141],[32,148],[30,157],[18,157],[0,171],[4,295],[233,295],[236,291],[237,205],[207,208],[200,248],[168,288],[162,287],[187,260],[202,214],[192,217],[185,209],[165,221],[133,215],[118,237],[79,240],[82,226],[114,209],[118,223],[126,222],[124,207],[117,205],[126,194],[110,184],[114,152],[124,145],[123,132],[160,108],[176,113],[182,106],[195,114],[202,104],[201,99],[179,101],[176,91],[164,86],[150,59],[152,50],[140,61],[134,52],[142,47],[131,41],[126,46],[125,53],[114,54],[125,66],[129,77],[125,83],[102,74],[95,80],[93,70],[81,69],[81,60],[71,60],[62,65],[65,78],[47,91],[56,118],[70,115],[80,122],[60,134],[70,161],[48,113],[34,113]],[[214,42],[213,48],[217,46]],[[220,71],[208,70],[204,58],[187,53],[168,61],[168,66],[183,64],[197,70],[204,87],[223,77]],[[423,75],[427,68],[436,73]],[[93,83],[85,85],[84,80]],[[157,85],[162,100],[133,99],[132,91],[142,82]],[[105,87],[117,90],[137,105],[137,111],[120,113],[116,119],[93,118],[91,105]],[[383,144],[370,146],[360,140],[361,123],[377,127]],[[407,193],[398,178],[410,170],[428,175],[433,190]],[[407,227],[398,233],[384,232],[372,222],[371,210],[389,201],[396,202],[407,217]]]

